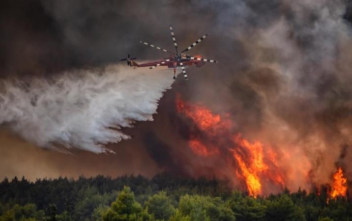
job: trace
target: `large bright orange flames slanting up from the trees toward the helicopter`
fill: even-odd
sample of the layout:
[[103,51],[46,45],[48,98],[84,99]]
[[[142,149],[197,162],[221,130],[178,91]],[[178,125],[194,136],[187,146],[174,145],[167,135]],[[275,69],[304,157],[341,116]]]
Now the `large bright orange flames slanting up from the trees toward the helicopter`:
[[[267,180],[282,188],[285,186],[284,178],[278,171],[276,153],[271,148],[264,153],[264,145],[260,141],[251,143],[247,139],[241,138],[240,135],[233,134],[231,132],[232,122],[229,119],[222,119],[220,114],[213,114],[203,106],[185,104],[179,95],[176,97],[176,109],[191,118],[207,138],[212,140],[229,138],[230,143],[226,143],[225,145],[228,146],[225,148],[232,153],[232,161],[235,160],[237,162],[235,165],[238,166],[232,168],[232,171],[235,170],[235,177],[245,183],[249,195],[254,197],[260,195],[263,182]],[[209,156],[214,152],[220,153],[219,150],[224,148],[221,147],[223,145],[212,146],[210,151],[210,148],[207,148],[200,139],[192,138],[189,141],[192,151],[202,157]]]

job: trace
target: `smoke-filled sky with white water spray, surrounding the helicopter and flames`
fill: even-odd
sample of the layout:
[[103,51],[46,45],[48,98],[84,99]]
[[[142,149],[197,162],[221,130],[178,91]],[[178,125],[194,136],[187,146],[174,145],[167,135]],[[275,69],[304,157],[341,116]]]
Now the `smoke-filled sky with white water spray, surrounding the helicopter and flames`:
[[[297,174],[292,188],[328,182],[336,166],[352,178],[350,10],[349,0],[4,0],[0,179],[220,175],[188,151],[192,122],[176,94],[228,114],[278,158],[292,151],[280,163]],[[118,62],[165,57],[139,42],[173,50],[169,23],[179,48],[208,33],[190,53],[219,63],[173,82],[172,71]]]

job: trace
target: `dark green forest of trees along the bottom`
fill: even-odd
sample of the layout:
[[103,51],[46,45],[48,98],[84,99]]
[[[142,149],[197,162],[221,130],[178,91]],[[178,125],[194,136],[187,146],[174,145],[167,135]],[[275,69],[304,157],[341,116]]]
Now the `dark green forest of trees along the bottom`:
[[226,181],[143,176],[0,183],[0,221],[351,221],[352,202],[298,190],[253,198]]

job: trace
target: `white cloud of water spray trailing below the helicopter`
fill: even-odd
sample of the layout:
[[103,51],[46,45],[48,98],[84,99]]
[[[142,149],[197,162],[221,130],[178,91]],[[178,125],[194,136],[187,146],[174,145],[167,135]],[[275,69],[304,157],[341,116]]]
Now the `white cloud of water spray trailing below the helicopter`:
[[153,120],[171,84],[165,73],[122,65],[2,81],[0,124],[41,147],[103,153],[104,144],[129,138],[121,128]]

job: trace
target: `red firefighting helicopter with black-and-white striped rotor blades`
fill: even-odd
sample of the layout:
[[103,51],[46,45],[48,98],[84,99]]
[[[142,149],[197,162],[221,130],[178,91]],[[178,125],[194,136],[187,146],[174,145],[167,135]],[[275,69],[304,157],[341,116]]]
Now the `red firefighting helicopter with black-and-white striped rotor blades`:
[[131,58],[130,55],[127,56],[127,58],[121,59],[121,61],[126,60],[127,61],[127,65],[129,66],[134,66],[136,67],[149,67],[149,69],[153,69],[156,68],[158,66],[168,66],[168,68],[173,68],[174,69],[174,80],[176,79],[176,69],[177,68],[181,68],[182,69],[182,73],[183,76],[186,80],[188,80],[187,74],[186,74],[186,70],[185,68],[188,66],[191,66],[193,64],[196,65],[196,67],[202,67],[205,62],[212,62],[212,63],[217,63],[216,60],[211,60],[211,59],[205,59],[203,56],[201,55],[188,55],[185,54],[185,52],[188,52],[190,49],[192,49],[194,46],[196,46],[198,43],[200,43],[201,41],[203,41],[206,36],[208,36],[208,34],[203,35],[202,37],[200,37],[197,41],[195,41],[193,44],[191,44],[188,48],[186,48],[185,50],[183,50],[182,52],[178,52],[177,49],[177,43],[176,43],[176,37],[173,31],[173,27],[170,24],[170,32],[171,32],[171,37],[174,41],[174,46],[176,49],[176,54],[172,53],[166,49],[157,47],[155,45],[152,44],[148,44],[147,42],[143,42],[141,41],[142,44],[150,46],[152,48],[156,48],[158,50],[164,51],[166,53],[171,54],[169,57],[163,58],[163,59],[159,59],[159,60],[154,60],[154,61],[149,61],[146,63],[142,63],[142,64],[138,64],[135,61],[133,61],[134,59],[137,59],[136,57]]

